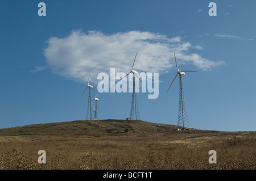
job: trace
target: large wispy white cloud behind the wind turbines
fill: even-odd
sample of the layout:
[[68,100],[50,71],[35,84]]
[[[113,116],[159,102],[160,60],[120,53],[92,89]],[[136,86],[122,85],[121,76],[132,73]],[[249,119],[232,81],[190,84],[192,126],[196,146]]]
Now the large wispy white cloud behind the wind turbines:
[[98,73],[109,73],[110,68],[115,68],[116,73],[128,73],[136,52],[134,69],[152,73],[166,73],[175,66],[174,52],[183,64],[192,64],[203,70],[224,64],[207,60],[199,54],[186,54],[193,48],[179,36],[170,39],[152,32],[105,35],[98,31],[72,31],[67,37],[51,37],[44,56],[53,73],[82,83],[88,81],[89,71],[94,83],[98,82]]

